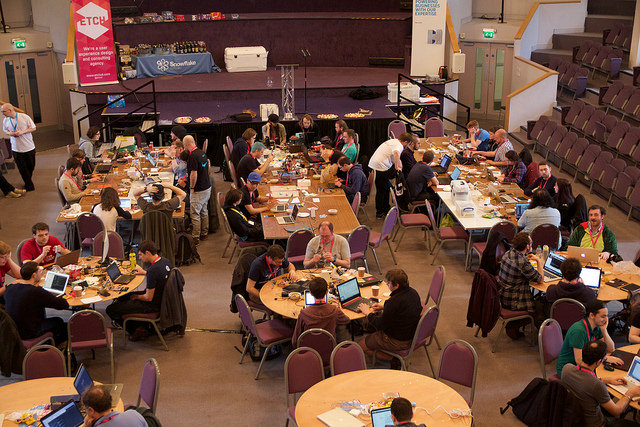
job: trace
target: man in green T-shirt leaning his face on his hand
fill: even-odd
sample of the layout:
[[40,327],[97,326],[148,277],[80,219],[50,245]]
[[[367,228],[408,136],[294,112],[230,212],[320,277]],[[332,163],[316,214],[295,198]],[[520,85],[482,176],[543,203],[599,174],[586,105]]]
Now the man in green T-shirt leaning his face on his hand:
[[[569,327],[564,337],[560,354],[556,360],[558,375],[562,378],[564,365],[571,363],[576,366],[583,364],[582,348],[591,341],[603,341],[607,353],[615,350],[615,344],[609,336],[609,310],[600,300],[593,300],[585,306],[586,316]],[[606,356],[603,361],[621,365],[622,360],[614,356]]]

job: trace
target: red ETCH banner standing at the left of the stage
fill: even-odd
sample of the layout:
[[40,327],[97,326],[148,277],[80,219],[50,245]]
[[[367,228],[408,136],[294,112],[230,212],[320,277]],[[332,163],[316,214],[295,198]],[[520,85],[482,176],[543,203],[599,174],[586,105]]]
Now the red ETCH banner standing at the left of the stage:
[[116,83],[110,0],[72,0],[81,85]]

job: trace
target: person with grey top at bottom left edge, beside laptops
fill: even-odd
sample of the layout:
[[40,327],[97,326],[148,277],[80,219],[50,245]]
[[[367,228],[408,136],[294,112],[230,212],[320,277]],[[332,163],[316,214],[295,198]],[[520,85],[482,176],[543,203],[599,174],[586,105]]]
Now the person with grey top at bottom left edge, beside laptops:
[[84,427],[147,427],[144,417],[135,409],[118,412],[111,408],[115,406],[109,394],[109,388],[103,385],[91,385],[81,397],[82,406],[86,412]]

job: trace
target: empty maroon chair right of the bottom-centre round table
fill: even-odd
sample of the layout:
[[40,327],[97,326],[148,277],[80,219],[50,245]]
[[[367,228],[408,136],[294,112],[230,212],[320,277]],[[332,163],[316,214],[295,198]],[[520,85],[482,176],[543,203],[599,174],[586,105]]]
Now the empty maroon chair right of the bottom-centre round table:
[[463,340],[448,342],[442,349],[436,380],[447,380],[471,388],[469,407],[473,406],[478,375],[478,353]]

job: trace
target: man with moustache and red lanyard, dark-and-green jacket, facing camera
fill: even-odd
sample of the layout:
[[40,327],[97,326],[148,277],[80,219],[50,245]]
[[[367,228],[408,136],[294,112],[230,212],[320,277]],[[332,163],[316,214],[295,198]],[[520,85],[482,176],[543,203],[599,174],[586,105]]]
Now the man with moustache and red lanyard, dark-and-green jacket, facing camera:
[[[589,207],[589,221],[577,226],[571,235],[567,246],[579,246],[581,248],[594,248],[600,251],[600,258],[607,260],[613,254],[618,253],[618,244],[613,231],[604,224],[604,216],[607,211],[599,205]],[[563,248],[566,250],[566,246]]]

